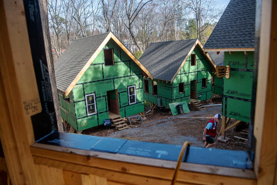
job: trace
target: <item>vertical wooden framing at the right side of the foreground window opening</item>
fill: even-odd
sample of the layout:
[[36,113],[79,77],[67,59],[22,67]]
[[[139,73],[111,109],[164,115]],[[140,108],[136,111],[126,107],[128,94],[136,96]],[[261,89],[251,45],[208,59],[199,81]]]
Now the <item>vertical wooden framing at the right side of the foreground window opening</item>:
[[274,181],[277,166],[277,87],[273,85],[276,84],[275,69],[277,67],[274,61],[277,49],[276,11],[276,1],[266,0],[262,3],[261,13],[257,14],[258,19],[261,20],[259,55],[257,56],[259,56],[259,62],[263,61],[263,65],[259,65],[258,68],[254,120],[254,136],[259,138],[256,143],[254,162],[258,177],[257,184],[277,183]]

